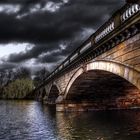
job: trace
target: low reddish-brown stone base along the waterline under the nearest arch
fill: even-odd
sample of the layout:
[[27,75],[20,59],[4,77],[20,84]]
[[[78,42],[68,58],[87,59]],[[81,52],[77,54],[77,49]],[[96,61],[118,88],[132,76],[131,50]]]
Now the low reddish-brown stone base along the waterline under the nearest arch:
[[64,102],[56,104],[58,112],[75,112],[75,111],[97,111],[97,110],[122,110],[140,108],[140,98],[121,99],[119,101],[104,102]]

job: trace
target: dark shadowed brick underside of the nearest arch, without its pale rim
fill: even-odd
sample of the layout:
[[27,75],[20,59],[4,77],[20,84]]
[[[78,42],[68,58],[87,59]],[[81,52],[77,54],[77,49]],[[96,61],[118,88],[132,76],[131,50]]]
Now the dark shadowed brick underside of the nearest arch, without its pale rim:
[[93,109],[140,107],[140,90],[116,74],[90,70],[72,83],[65,102],[86,103]]

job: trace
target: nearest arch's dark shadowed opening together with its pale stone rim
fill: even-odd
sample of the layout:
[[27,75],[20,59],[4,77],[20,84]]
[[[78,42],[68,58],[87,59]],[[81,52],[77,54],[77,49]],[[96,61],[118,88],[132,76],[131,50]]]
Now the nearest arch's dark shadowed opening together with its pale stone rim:
[[65,92],[66,102],[94,102],[101,108],[140,106],[138,71],[108,61],[90,62],[86,69],[79,69],[71,78]]

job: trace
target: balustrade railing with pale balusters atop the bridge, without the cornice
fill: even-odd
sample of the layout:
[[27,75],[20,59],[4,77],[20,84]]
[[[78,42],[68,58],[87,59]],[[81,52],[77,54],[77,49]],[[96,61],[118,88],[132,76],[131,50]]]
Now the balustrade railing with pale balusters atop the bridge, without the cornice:
[[[102,41],[106,36],[109,36],[118,26],[126,22],[129,18],[133,17],[140,11],[140,5],[125,5],[121,10],[117,11],[103,26],[101,26],[84,45],[77,48],[64,62],[62,62],[50,75],[46,81],[52,78],[54,75],[64,70],[69,64],[71,64],[79,55],[85,53],[92,46]],[[93,42],[93,43],[92,43]]]

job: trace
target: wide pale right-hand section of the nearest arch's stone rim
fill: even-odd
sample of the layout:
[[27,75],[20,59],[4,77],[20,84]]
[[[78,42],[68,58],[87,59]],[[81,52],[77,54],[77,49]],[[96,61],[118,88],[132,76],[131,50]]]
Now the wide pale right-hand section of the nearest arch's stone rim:
[[140,72],[122,63],[107,60],[93,61],[87,64],[87,71],[103,70],[118,75],[140,90]]

